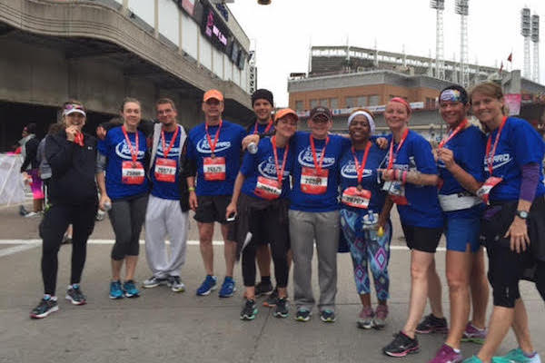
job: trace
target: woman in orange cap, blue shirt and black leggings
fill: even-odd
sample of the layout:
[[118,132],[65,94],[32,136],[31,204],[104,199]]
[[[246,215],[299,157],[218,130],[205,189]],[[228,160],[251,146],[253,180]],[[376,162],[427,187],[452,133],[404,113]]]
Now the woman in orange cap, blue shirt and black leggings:
[[[297,130],[299,118],[291,109],[278,111],[274,119],[276,132],[258,144],[256,153],[246,152],[243,165],[234,182],[233,197],[226,215],[237,213],[230,237],[242,248],[245,303],[241,319],[253,320],[257,313],[255,297],[255,254],[260,241],[253,238],[257,231],[270,240],[277,281],[278,299],[273,315],[288,316],[287,284],[290,248],[288,208],[290,201],[290,174],[292,172],[292,145],[290,139]],[[250,232],[250,235],[248,234]],[[249,240],[247,240],[250,238]]]

